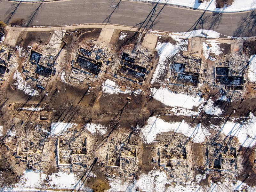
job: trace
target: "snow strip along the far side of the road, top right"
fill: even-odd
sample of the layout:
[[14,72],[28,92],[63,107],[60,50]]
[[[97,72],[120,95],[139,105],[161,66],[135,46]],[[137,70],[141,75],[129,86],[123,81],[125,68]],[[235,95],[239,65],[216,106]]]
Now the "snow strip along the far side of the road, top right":
[[241,12],[256,9],[255,0],[234,0],[233,4],[230,6],[225,6],[224,8],[216,8],[216,0],[205,1],[204,3],[198,3],[197,0],[134,0],[134,1],[144,1],[144,2],[154,2],[154,3],[164,3],[171,5],[179,5],[190,7],[194,9],[203,9],[207,11],[214,12]]

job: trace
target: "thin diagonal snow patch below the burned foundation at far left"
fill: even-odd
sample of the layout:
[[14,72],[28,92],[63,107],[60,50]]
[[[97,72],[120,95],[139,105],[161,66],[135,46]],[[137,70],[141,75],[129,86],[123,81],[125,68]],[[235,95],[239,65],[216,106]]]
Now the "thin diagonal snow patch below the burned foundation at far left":
[[24,91],[26,94],[32,97],[39,94],[36,89],[33,89],[30,85],[27,84],[27,82],[22,78],[20,72],[16,71],[13,75],[13,78],[17,80],[17,88],[19,90]]

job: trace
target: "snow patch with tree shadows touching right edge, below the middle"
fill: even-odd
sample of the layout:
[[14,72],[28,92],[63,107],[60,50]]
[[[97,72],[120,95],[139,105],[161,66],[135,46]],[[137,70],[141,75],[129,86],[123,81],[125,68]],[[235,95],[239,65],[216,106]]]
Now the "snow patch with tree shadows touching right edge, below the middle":
[[250,113],[249,118],[242,123],[228,121],[212,128],[216,128],[227,136],[236,136],[243,147],[252,147],[256,143],[256,117]]

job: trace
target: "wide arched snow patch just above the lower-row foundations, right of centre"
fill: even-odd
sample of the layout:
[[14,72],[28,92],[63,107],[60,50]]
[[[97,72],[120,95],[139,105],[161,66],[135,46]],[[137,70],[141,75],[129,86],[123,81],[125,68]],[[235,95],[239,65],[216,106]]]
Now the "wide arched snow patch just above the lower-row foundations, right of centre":
[[142,135],[146,143],[152,143],[156,138],[156,135],[162,132],[182,133],[185,136],[192,138],[192,141],[195,143],[203,142],[205,136],[210,135],[202,124],[198,124],[196,127],[192,128],[184,120],[182,122],[169,123],[157,116],[150,117],[147,125],[142,128]]

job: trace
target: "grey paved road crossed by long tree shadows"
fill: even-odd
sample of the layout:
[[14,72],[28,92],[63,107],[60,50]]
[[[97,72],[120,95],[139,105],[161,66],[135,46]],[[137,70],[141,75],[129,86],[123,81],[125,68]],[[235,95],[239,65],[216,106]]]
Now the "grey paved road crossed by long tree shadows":
[[228,36],[256,36],[256,10],[213,13],[125,0],[71,0],[39,4],[0,1],[0,20],[12,25],[111,23],[172,32],[211,29]]

